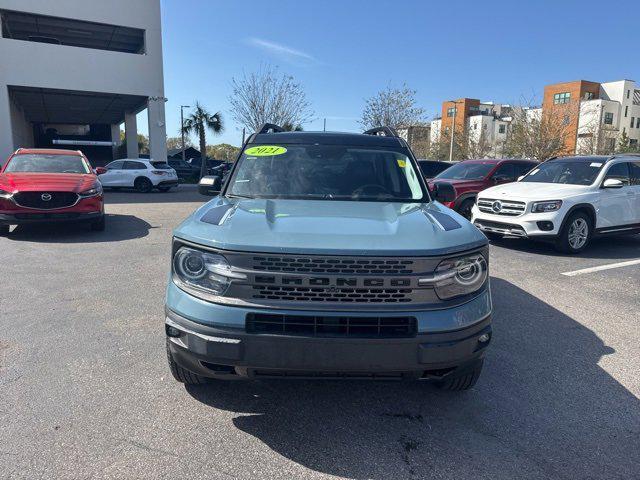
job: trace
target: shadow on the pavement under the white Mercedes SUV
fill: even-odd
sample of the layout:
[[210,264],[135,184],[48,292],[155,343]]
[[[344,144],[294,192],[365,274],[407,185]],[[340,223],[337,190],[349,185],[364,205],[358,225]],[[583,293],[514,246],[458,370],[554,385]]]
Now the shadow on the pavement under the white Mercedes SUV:
[[591,243],[581,253],[570,255],[558,252],[552,243],[526,240],[516,237],[506,237],[492,240],[492,245],[509,248],[524,253],[533,253],[554,257],[580,257],[589,259],[627,260],[640,257],[640,235],[624,235],[612,237],[599,237],[591,240]]

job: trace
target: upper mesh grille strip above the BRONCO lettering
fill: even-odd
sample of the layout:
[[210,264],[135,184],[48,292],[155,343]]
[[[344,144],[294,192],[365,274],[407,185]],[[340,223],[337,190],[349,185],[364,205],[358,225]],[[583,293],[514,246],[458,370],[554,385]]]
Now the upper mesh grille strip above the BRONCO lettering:
[[269,272],[407,275],[413,260],[310,257],[253,257],[253,269]]

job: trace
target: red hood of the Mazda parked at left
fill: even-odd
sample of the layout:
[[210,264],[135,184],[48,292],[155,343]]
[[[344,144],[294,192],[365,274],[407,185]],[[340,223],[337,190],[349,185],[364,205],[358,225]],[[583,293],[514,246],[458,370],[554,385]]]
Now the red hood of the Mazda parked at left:
[[0,189],[15,192],[75,192],[90,189],[97,177],[79,173],[3,173]]

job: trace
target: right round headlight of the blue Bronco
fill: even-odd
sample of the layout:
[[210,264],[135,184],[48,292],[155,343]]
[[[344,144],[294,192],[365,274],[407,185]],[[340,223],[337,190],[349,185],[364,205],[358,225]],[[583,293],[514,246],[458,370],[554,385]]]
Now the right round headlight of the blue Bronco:
[[480,253],[443,260],[431,279],[420,280],[421,285],[433,285],[441,300],[468,295],[479,290],[487,280],[487,260]]

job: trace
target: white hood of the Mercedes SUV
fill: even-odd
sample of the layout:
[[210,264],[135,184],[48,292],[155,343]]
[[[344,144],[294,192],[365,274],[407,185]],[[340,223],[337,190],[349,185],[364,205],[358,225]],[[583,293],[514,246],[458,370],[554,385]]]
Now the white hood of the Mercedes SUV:
[[574,195],[582,195],[589,190],[585,185],[566,183],[515,182],[497,185],[484,190],[482,198],[504,198],[505,200],[562,200]]

